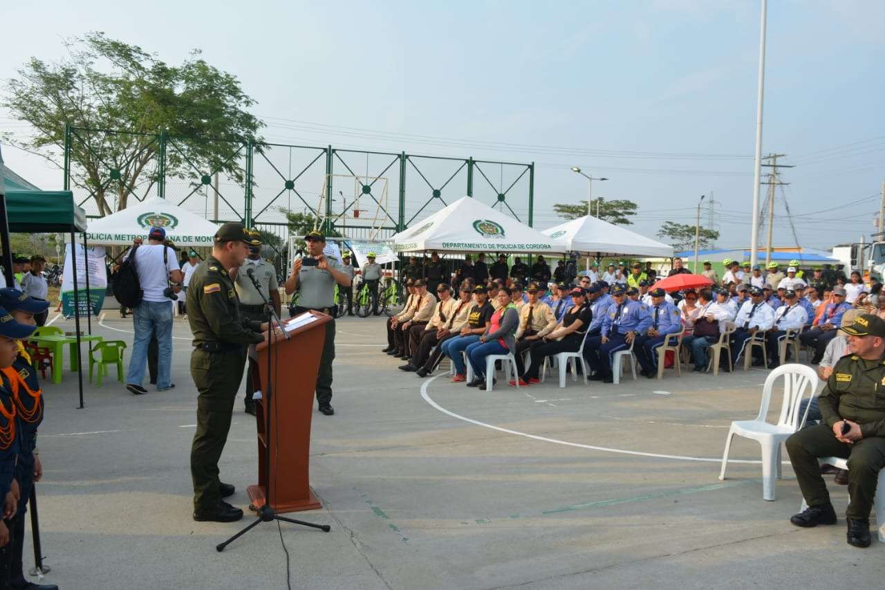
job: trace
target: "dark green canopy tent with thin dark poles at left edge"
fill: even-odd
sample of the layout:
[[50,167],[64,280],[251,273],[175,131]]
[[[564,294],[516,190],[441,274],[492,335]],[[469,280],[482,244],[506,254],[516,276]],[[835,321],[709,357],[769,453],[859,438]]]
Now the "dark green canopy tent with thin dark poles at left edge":
[[[7,190],[11,189],[11,190]],[[3,265],[6,284],[12,280],[12,249],[10,232],[15,233],[70,233],[71,243],[75,244],[74,234],[86,231],[86,213],[74,204],[70,190],[40,190],[4,165],[0,153],[0,246],[3,247]],[[86,247],[84,237],[83,247]],[[72,248],[73,268],[76,268],[76,249]],[[89,300],[89,273],[86,274],[87,300]],[[74,309],[80,309],[77,291],[77,273],[73,273]],[[77,330],[77,349],[80,350],[80,314],[74,314]],[[92,333],[92,319],[87,314],[89,333]],[[77,355],[77,374],[80,379],[80,408],[83,408],[83,368],[82,357]]]

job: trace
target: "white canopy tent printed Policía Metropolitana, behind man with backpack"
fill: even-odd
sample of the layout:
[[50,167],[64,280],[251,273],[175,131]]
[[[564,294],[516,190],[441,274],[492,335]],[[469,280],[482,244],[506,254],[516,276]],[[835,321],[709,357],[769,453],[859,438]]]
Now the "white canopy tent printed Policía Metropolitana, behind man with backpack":
[[165,229],[176,246],[211,246],[219,226],[165,198],[146,198],[101,219],[89,220],[86,238],[91,245],[132,245],[147,237],[152,226]]

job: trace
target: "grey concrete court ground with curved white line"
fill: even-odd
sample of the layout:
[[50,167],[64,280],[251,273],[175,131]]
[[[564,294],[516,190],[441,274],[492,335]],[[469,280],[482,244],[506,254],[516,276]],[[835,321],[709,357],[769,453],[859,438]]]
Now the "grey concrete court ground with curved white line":
[[[131,320],[116,312],[92,329],[131,343]],[[718,480],[728,425],[756,415],[767,371],[477,392],[445,371],[397,370],[381,353],[380,318],[343,319],[337,334],[335,416],[314,410],[312,427],[323,508],[289,515],[332,532],[261,524],[220,554],[216,543],[250,518],[190,516],[186,320],[175,322],[172,391],[135,397],[111,377],[87,385],[77,409],[73,373],[46,384],[37,489],[47,581],[284,588],[282,540],[303,588],[881,586],[885,547],[846,545],[847,493],[832,476],[840,522],[812,530],[788,522],[802,500],[789,465],[777,501],[762,500],[756,443],[735,439],[732,458],[748,462]],[[235,408],[220,466],[246,508],[255,424],[242,400]]]

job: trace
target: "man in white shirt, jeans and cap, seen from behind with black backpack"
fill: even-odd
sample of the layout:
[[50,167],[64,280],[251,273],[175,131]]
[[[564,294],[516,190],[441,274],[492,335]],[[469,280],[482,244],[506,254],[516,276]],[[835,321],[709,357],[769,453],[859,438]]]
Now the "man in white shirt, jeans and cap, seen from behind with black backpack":
[[163,228],[150,228],[148,243],[136,245],[129,256],[135,257],[135,272],[144,294],[142,302],[132,310],[135,337],[126,388],[135,395],[148,392],[142,387],[142,381],[153,334],[158,342],[157,391],[164,392],[175,386],[172,383],[172,300],[175,292],[170,281],[181,283],[183,276],[175,259],[175,251],[165,245]]

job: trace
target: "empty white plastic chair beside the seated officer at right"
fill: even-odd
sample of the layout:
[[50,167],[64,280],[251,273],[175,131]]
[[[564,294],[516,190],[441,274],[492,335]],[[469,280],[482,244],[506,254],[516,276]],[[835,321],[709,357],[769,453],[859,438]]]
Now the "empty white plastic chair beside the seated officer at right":
[[[777,423],[770,423],[766,419],[768,407],[771,403],[772,389],[780,377],[783,377],[784,382],[781,415]],[[811,399],[817,388],[818,376],[811,367],[790,363],[774,369],[766,378],[762,390],[762,403],[756,418],[731,423],[725,439],[725,452],[722,454],[720,479],[725,479],[728,451],[731,449],[731,440],[735,434],[756,440],[762,447],[762,498],[773,501],[774,480],[781,478],[781,442],[803,427],[808,408],[805,408],[804,415],[799,415],[799,406],[805,398],[805,393],[807,392],[808,398]]]

